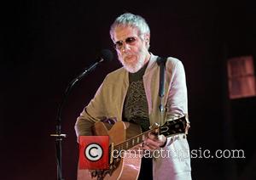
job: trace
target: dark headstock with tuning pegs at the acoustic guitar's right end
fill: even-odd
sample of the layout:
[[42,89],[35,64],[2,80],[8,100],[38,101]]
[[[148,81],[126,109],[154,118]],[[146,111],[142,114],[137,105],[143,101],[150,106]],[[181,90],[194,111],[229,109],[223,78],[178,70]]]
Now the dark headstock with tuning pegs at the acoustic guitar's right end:
[[166,123],[159,127],[159,133],[166,137],[172,136],[173,134],[185,133],[187,127],[186,117],[183,116],[176,120],[166,121]]

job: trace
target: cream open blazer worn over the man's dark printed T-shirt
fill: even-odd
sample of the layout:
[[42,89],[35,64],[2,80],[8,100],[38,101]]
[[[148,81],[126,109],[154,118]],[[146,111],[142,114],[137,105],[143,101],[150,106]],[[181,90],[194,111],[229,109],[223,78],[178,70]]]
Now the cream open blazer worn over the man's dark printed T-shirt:
[[[156,62],[157,56],[151,54],[148,67],[143,76],[144,89],[148,101],[150,124],[164,124],[175,117],[188,117],[188,98],[186,78],[183,64],[180,60],[169,57],[166,60],[166,82],[163,104],[164,118],[160,118],[159,82],[160,67]],[[115,70],[106,76],[96,95],[84,108],[75,124],[77,136],[90,135],[90,127],[96,121],[105,118],[116,118],[122,121],[123,105],[129,87],[129,72],[125,68]],[[187,118],[188,120],[188,118]],[[172,154],[175,155],[172,155]],[[167,138],[163,148],[164,157],[154,158],[154,180],[161,179],[190,179],[189,144],[186,138],[179,136]],[[183,154],[183,155],[182,155]]]

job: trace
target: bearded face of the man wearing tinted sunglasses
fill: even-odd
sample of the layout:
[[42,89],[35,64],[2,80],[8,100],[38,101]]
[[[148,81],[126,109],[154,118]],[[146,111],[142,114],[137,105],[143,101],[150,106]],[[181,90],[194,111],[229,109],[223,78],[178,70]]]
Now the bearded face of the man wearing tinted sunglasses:
[[137,28],[117,26],[113,32],[113,40],[119,61],[131,73],[140,70],[149,59],[147,43],[149,36],[139,37]]

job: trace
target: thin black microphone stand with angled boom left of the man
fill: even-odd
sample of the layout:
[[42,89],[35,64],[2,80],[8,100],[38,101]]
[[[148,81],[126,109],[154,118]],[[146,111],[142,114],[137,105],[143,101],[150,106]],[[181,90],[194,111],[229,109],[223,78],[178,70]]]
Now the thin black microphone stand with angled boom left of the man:
[[62,138],[67,138],[67,134],[62,134],[61,133],[61,111],[63,109],[63,105],[67,101],[67,97],[71,90],[73,89],[73,86],[76,84],[76,82],[79,82],[84,76],[88,75],[88,73],[91,70],[94,70],[96,68],[96,65],[100,64],[104,59],[100,59],[93,65],[90,65],[90,67],[84,72],[82,72],[79,76],[73,79],[72,82],[70,82],[66,88],[66,91],[64,93],[64,97],[62,98],[61,104],[59,105],[58,112],[57,112],[57,124],[55,127],[55,134],[50,134],[51,137],[55,137],[55,149],[56,149],[56,161],[57,161],[57,180],[64,180],[62,177],[62,161],[61,161],[61,156],[62,156],[62,149],[61,149],[61,142]]

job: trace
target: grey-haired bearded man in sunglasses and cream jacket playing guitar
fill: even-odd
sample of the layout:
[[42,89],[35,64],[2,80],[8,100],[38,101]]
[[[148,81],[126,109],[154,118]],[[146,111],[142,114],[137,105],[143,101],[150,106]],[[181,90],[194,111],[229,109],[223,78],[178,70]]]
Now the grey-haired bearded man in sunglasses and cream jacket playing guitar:
[[[77,136],[90,135],[93,123],[104,118],[135,122],[145,132],[154,122],[162,125],[178,116],[187,116],[183,65],[178,59],[169,57],[166,59],[162,99],[165,118],[160,118],[160,67],[157,56],[148,52],[150,31],[146,21],[139,15],[122,14],[111,25],[110,36],[123,67],[106,76],[95,97],[84,108],[75,125]],[[143,158],[138,179],[191,179],[189,144],[184,135],[166,138],[151,133],[145,139],[143,149],[163,149],[165,156]],[[176,155],[170,156],[170,152]]]

